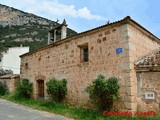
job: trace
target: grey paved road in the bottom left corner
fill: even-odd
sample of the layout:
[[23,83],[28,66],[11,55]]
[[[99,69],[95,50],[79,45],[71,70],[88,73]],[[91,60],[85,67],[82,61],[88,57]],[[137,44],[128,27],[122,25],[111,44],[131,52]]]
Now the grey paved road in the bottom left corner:
[[0,99],[0,120],[69,120],[69,118]]

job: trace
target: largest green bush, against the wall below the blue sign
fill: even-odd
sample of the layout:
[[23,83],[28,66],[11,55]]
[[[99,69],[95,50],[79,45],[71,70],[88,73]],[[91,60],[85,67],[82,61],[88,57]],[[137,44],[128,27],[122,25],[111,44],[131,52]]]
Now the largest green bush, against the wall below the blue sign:
[[91,100],[100,111],[112,109],[114,100],[119,98],[118,90],[118,79],[116,77],[106,79],[103,75],[99,75],[92,85],[86,88]]

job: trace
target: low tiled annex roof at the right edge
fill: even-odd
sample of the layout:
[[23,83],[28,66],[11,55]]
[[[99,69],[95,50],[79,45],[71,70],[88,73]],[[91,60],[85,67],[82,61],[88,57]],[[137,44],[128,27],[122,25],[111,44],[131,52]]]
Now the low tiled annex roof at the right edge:
[[160,49],[142,57],[135,63],[135,66],[137,70],[160,70]]

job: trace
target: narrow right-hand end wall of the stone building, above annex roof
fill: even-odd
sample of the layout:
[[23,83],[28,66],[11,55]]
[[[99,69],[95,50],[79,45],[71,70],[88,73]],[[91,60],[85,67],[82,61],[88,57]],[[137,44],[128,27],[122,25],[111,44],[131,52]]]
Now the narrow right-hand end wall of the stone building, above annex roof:
[[[134,63],[139,58],[153,52],[160,47],[156,41],[147,37],[146,34],[140,32],[132,25],[128,25],[128,50],[129,50],[129,79],[126,80],[127,96],[126,100],[128,108],[137,110],[137,77],[134,69]],[[142,30],[143,31],[143,30]],[[148,34],[148,33],[147,33]],[[126,103],[126,105],[127,105]]]

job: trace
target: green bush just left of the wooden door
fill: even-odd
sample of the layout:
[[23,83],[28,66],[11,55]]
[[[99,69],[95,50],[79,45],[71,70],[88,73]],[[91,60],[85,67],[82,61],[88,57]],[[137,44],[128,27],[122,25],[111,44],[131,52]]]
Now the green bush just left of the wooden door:
[[18,96],[30,98],[32,93],[32,83],[28,79],[22,79],[17,84],[16,90]]

